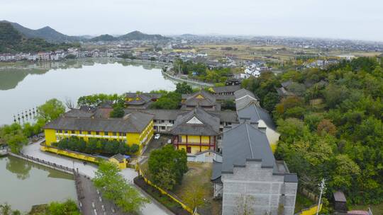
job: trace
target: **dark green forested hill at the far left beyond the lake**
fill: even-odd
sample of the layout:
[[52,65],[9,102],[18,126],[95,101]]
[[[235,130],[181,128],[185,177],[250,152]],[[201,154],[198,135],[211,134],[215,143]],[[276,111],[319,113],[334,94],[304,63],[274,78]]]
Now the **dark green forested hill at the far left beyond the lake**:
[[10,23],[0,22],[0,53],[53,51],[72,46],[52,44],[40,38],[26,38]]

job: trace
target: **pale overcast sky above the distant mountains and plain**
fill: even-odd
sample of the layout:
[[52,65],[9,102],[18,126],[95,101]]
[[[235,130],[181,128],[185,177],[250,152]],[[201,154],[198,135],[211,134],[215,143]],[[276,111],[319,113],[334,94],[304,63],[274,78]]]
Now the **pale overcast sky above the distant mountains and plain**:
[[67,35],[284,35],[383,41],[382,0],[0,0],[0,20]]

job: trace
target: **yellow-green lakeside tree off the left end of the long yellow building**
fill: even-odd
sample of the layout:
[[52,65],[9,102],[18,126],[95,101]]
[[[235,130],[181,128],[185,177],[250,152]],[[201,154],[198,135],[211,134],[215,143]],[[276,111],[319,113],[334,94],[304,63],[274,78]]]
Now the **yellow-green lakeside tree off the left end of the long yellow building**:
[[44,105],[40,105],[38,108],[38,120],[44,120],[44,122],[50,122],[57,119],[65,112],[65,106],[60,100],[52,98],[45,102]]

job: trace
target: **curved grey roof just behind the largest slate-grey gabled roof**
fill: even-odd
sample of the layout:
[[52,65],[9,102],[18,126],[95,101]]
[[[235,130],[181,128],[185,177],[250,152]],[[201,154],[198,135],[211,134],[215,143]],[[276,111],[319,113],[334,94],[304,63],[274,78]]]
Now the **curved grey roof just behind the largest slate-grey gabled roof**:
[[237,114],[239,118],[250,118],[250,122],[258,122],[259,120],[263,120],[267,127],[270,127],[270,129],[273,130],[276,129],[269,112],[257,105],[248,105],[248,107],[238,110]]

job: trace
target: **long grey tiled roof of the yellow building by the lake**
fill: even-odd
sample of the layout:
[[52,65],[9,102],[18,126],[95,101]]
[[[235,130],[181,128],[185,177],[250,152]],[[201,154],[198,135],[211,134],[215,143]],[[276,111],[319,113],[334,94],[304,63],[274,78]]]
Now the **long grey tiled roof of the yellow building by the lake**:
[[45,125],[45,129],[65,129],[100,132],[143,132],[153,119],[153,115],[132,112],[123,118],[81,118],[60,117]]

